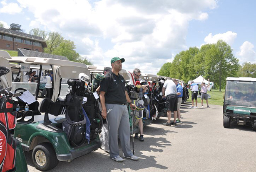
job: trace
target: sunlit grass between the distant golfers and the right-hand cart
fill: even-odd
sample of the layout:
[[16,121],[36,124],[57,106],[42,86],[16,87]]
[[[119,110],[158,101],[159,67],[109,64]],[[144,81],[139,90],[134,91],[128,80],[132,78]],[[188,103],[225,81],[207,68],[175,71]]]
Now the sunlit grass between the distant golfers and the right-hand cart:
[[[224,94],[225,94],[225,89],[221,89],[221,92],[218,90],[211,90],[209,92],[207,92],[208,94],[210,94],[211,98],[208,99],[209,104],[214,104],[214,105],[223,105],[224,102]],[[188,102],[191,102],[191,92],[189,92],[190,96],[189,99],[187,100]],[[199,105],[201,104],[201,98],[197,98]],[[205,100],[204,100],[204,104],[206,104]],[[201,105],[200,105],[201,107]]]

